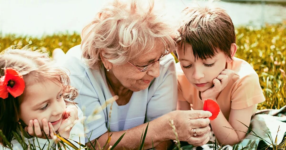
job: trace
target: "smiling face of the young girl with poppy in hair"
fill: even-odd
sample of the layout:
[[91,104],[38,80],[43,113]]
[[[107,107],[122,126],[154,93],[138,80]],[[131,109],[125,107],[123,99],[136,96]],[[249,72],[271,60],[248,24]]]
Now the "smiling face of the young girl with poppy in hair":
[[45,118],[57,131],[66,108],[61,83],[51,80],[33,83],[32,79],[25,79],[25,82],[29,84],[23,93],[19,119],[26,125],[31,119],[37,119],[43,129],[42,120]]

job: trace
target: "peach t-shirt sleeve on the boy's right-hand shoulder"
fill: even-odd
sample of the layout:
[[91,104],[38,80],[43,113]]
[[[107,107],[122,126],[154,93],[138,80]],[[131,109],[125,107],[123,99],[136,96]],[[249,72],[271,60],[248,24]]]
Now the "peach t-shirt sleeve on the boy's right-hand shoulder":
[[244,109],[265,101],[256,73],[239,79],[231,93],[231,109]]

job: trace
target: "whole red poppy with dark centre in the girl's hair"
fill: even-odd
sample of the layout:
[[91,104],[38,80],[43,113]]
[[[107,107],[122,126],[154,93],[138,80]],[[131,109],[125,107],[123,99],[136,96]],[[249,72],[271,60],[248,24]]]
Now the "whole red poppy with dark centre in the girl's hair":
[[25,89],[23,76],[13,68],[6,68],[4,72],[4,76],[0,78],[0,97],[6,99],[8,93],[13,97],[20,96]]

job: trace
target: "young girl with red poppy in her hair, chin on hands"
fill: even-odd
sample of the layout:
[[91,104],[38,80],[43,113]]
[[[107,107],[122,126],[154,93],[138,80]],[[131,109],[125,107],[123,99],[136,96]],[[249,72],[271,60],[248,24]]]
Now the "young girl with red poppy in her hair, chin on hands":
[[[54,132],[80,147],[74,142],[84,142],[83,114],[72,102],[77,90],[46,53],[5,50],[0,55],[0,77],[0,130],[6,137],[0,136],[0,143],[4,148],[27,149],[29,143],[36,149],[55,148],[54,140],[46,139],[57,139]],[[16,135],[23,140],[18,141]]]

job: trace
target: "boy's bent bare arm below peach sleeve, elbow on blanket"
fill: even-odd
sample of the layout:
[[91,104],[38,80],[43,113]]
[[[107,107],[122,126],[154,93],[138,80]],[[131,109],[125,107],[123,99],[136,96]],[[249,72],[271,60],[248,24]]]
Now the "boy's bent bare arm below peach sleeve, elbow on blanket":
[[212,131],[215,133],[219,143],[223,145],[234,145],[239,143],[239,141],[245,137],[246,133],[244,132],[247,132],[248,130],[245,125],[249,126],[250,124],[253,107],[255,107],[255,105],[245,109],[231,109],[229,121],[227,121],[223,113],[220,111],[217,118],[210,121]]

